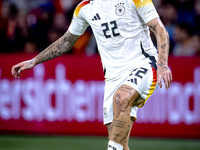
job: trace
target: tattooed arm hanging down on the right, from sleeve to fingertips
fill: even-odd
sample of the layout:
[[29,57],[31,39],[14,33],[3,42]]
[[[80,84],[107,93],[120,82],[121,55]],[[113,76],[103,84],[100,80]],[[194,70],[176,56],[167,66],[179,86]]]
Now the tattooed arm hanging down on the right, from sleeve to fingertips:
[[166,89],[169,89],[172,82],[172,74],[168,68],[169,55],[169,35],[160,18],[156,18],[147,23],[151,31],[155,34],[158,47],[158,70],[157,80],[162,88],[161,79],[165,82]]

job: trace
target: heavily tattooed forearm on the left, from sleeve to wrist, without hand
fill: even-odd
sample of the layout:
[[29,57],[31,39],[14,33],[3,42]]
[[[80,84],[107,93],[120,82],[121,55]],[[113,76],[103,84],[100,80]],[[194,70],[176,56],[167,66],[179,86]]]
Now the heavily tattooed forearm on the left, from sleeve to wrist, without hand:
[[36,63],[39,64],[64,54],[73,47],[78,38],[79,36],[67,31],[60,39],[52,43],[35,57]]

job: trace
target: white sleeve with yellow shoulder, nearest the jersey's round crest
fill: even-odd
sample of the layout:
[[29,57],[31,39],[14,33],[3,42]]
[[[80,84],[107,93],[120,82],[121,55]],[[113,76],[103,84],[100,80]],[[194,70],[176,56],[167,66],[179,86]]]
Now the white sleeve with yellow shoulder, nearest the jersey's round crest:
[[133,0],[133,2],[137,13],[145,23],[159,17],[152,0]]

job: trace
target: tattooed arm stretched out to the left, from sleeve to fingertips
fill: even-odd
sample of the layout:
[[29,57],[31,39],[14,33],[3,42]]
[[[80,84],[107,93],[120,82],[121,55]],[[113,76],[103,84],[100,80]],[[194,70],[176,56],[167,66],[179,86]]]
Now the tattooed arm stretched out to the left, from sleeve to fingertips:
[[23,70],[31,69],[39,63],[45,62],[64,54],[74,46],[79,37],[80,36],[73,35],[69,31],[67,31],[61,38],[52,43],[35,58],[13,66],[11,71],[12,75],[15,76],[15,78],[20,78],[20,73]]

